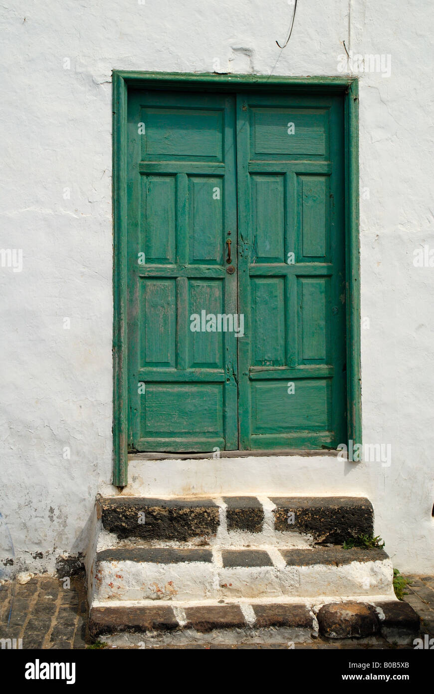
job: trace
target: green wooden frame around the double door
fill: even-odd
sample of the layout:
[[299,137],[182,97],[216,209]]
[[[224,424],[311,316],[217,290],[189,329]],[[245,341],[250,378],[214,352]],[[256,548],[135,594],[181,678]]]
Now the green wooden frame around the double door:
[[[345,98],[347,438],[362,442],[358,212],[358,79],[113,71],[113,484],[128,483],[127,99],[128,87],[159,90],[342,94]],[[342,442],[343,443],[343,442]],[[278,454],[278,451],[276,451]],[[255,452],[252,451],[252,455]]]

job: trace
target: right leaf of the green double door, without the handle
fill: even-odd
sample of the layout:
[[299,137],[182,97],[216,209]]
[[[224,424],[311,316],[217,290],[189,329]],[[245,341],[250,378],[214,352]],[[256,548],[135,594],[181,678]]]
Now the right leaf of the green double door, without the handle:
[[347,440],[343,104],[238,95],[240,447]]

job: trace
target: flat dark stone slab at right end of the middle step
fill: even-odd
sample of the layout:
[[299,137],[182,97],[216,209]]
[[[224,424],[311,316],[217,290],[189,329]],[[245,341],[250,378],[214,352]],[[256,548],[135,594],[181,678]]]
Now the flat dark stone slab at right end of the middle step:
[[342,547],[314,547],[311,550],[279,550],[286,561],[286,566],[313,566],[313,564],[328,564],[343,566],[351,561],[383,561],[388,555],[381,548],[361,550],[354,548],[344,550]]

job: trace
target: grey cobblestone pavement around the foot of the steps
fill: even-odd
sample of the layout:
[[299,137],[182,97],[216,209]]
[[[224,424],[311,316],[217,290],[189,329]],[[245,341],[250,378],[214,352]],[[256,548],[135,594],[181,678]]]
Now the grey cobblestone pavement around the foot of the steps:
[[[411,583],[406,586],[404,600],[422,618],[422,634],[434,636],[434,577],[406,576]],[[12,600],[13,596],[13,600]],[[23,649],[71,649],[104,648],[103,643],[87,636],[87,597],[85,578],[79,575],[64,587],[63,579],[37,576],[25,584],[9,582],[0,585],[0,638],[21,638]],[[138,648],[138,647],[136,647]],[[205,645],[191,643],[178,646],[186,649],[288,649],[288,643],[229,645]],[[295,649],[386,649],[396,648],[381,637],[369,640],[345,639],[326,641],[318,638],[310,643],[296,643]],[[403,648],[403,647],[399,647]]]

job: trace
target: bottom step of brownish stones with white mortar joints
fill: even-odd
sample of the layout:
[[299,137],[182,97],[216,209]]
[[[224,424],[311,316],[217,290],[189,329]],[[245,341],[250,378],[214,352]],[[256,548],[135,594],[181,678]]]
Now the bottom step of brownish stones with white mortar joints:
[[398,600],[339,601],[321,606],[300,602],[229,602],[182,607],[171,604],[92,606],[89,633],[113,645],[182,643],[302,643],[325,638],[379,634],[391,643],[412,643],[419,617]]

